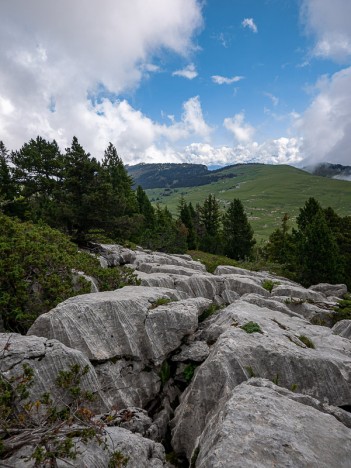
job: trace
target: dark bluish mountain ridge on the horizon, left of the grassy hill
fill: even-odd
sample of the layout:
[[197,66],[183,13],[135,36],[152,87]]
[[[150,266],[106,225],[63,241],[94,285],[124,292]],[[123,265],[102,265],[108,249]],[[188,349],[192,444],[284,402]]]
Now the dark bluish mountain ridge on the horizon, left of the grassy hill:
[[209,170],[203,164],[141,163],[126,169],[134,186],[143,189],[196,187],[235,177],[235,173],[222,174],[221,169]]

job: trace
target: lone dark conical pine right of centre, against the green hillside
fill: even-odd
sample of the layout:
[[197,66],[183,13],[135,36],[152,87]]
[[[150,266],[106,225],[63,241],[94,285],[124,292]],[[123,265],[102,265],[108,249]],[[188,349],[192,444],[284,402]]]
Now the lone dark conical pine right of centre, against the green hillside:
[[224,253],[235,260],[244,260],[252,254],[256,241],[240,200],[233,200],[223,216]]

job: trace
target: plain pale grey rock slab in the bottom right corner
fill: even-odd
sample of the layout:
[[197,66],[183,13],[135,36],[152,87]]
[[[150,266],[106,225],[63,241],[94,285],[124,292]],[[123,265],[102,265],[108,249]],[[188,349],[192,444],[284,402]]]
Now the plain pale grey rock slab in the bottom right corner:
[[271,382],[236,387],[207,422],[195,466],[349,468],[351,429],[295,396]]

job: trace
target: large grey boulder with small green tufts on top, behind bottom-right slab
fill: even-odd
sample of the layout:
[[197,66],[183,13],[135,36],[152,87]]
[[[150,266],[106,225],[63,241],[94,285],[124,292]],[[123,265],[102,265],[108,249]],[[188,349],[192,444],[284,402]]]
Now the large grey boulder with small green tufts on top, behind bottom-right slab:
[[[262,333],[240,328],[249,321]],[[173,447],[188,457],[218,402],[253,376],[336,406],[351,404],[351,344],[329,328],[236,301],[210,321],[200,338],[217,342],[182,394],[172,421]]]

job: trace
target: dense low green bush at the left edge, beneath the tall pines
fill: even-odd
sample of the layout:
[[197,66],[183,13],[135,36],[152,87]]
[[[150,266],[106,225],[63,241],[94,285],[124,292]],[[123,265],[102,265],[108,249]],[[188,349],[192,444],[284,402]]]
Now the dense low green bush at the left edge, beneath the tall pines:
[[90,292],[90,283],[75,280],[73,269],[96,278],[102,291],[138,283],[131,270],[101,268],[61,232],[0,214],[0,314],[6,330],[26,333],[39,315]]

